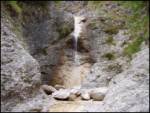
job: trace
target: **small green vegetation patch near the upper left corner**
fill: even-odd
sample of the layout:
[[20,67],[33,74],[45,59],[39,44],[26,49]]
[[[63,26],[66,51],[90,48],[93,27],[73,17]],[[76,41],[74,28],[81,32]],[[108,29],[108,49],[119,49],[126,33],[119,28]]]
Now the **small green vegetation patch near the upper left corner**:
[[18,14],[21,13],[21,8],[20,6],[18,5],[17,1],[7,1],[8,5],[11,6],[11,8]]

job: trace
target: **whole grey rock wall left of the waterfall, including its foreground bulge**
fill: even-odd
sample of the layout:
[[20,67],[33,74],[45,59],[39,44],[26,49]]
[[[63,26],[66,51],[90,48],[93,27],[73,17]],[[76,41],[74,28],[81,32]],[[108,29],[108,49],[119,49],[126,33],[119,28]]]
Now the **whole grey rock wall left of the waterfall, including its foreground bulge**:
[[19,15],[6,2],[1,6],[2,111],[10,111],[35,96],[41,84],[51,83],[73,17],[53,2],[21,2]]

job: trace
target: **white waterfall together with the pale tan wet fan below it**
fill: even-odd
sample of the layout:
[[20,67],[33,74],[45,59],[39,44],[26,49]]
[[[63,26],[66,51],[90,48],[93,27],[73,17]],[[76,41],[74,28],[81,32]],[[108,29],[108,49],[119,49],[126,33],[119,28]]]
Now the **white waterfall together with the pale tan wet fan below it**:
[[[55,73],[54,84],[63,84],[66,88],[81,87],[85,76],[90,71],[90,63],[83,63],[86,55],[79,52],[79,38],[82,38],[81,34],[85,28],[85,18],[83,16],[74,16],[74,33],[73,33],[73,62],[69,60],[68,57],[62,57],[65,59],[65,63],[57,68],[57,73]],[[81,61],[81,59],[83,61]],[[62,79],[60,79],[62,78]]]

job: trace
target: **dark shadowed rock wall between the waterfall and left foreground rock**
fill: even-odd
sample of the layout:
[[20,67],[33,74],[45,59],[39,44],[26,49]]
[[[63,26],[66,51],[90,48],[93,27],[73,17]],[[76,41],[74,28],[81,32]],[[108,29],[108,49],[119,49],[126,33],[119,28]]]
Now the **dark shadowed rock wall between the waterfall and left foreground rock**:
[[63,48],[64,42],[58,42],[73,31],[73,17],[57,9],[53,2],[45,3],[44,7],[28,2],[23,8],[22,28],[27,49],[39,62],[42,83],[49,84]]

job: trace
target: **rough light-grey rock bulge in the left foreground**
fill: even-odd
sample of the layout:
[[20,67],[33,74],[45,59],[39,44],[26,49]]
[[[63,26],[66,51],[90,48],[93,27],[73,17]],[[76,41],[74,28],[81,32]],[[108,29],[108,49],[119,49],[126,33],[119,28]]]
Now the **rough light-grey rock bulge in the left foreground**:
[[1,23],[1,101],[2,111],[9,111],[37,92],[41,74],[38,62],[11,31],[10,21],[3,18]]

